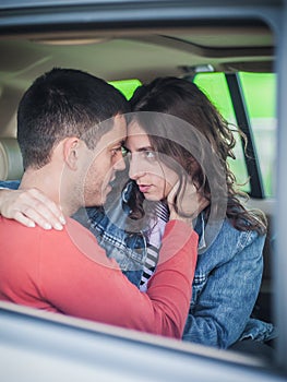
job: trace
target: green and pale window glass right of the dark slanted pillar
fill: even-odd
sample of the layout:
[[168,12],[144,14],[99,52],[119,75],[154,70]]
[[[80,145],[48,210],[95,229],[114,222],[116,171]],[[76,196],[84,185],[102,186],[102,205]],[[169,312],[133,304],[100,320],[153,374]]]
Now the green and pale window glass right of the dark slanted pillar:
[[259,156],[264,192],[275,194],[276,74],[239,73]]

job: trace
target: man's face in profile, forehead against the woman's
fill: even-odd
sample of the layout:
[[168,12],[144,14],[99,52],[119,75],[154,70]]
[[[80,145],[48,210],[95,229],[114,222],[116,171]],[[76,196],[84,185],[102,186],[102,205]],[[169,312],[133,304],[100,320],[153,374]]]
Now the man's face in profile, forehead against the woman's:
[[94,151],[87,150],[91,165],[84,179],[84,205],[101,205],[111,191],[110,182],[116,171],[125,168],[122,158],[122,144],[127,136],[127,122],[122,115],[115,117],[113,127],[104,134]]

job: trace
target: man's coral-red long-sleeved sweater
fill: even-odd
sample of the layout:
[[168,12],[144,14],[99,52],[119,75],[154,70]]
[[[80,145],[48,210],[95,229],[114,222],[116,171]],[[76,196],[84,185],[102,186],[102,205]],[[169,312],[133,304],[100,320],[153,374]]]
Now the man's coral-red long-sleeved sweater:
[[180,338],[196,253],[196,234],[169,222],[159,265],[143,294],[75,220],[47,231],[0,216],[0,299]]

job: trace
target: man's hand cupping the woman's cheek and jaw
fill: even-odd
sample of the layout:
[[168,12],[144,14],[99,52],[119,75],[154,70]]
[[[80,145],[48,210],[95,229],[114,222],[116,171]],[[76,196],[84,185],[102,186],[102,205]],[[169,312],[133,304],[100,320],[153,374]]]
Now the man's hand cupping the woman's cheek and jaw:
[[[177,195],[177,211],[175,196]],[[179,182],[175,184],[167,198],[170,220],[178,219],[192,224],[192,220],[210,204],[210,201],[201,195],[192,182],[188,180],[186,188],[179,190]]]

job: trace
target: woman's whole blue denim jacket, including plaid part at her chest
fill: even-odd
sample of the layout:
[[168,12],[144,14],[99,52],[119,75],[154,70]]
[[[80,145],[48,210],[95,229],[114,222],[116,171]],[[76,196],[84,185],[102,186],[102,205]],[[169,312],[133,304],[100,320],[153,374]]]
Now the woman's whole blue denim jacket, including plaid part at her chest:
[[[16,184],[0,182],[0,187],[16,188]],[[123,198],[127,194],[129,189]],[[123,201],[115,201],[108,213],[103,207],[83,208],[74,218],[91,229],[108,256],[116,259],[127,277],[139,287],[146,239],[145,232],[124,231],[128,213]],[[200,247],[204,248],[202,216],[195,230]],[[215,240],[199,251],[183,341],[228,348],[239,339],[264,342],[275,337],[271,323],[251,318],[263,273],[264,241],[264,236],[251,230],[239,231],[226,218]]]

